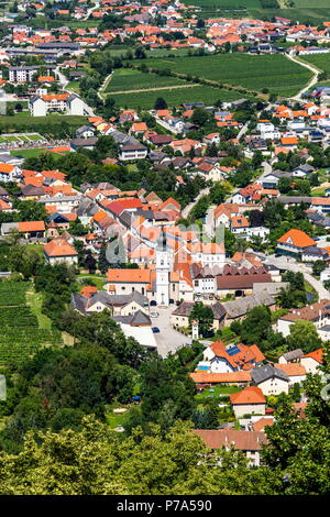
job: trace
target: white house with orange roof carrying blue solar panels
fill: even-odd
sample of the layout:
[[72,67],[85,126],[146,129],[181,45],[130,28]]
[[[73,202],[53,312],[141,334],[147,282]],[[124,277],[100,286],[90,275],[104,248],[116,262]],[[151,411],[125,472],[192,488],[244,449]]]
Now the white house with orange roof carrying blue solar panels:
[[211,373],[230,373],[261,366],[264,359],[256,344],[226,345],[222,341],[215,341],[205,349],[200,364],[208,365]]

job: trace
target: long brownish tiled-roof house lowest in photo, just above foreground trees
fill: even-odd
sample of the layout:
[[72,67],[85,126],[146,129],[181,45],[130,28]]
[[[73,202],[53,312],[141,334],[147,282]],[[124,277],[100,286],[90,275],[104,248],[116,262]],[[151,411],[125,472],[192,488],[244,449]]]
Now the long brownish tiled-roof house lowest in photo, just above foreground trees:
[[235,431],[233,429],[194,429],[208,449],[216,451],[224,448],[229,451],[232,447],[242,452],[249,460],[249,466],[260,466],[262,444],[267,443],[267,438],[262,431]]

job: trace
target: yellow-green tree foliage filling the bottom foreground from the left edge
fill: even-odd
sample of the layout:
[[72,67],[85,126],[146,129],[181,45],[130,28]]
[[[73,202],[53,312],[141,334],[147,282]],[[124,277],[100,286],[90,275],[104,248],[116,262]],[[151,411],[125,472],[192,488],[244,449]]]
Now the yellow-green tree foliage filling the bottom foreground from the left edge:
[[77,431],[29,432],[19,454],[0,452],[1,493],[241,495],[260,492],[260,474],[246,466],[243,454],[219,450],[208,458],[207,452],[200,437],[186,422],[177,421],[166,433],[160,426],[152,426],[145,436],[140,428],[132,437],[124,438],[89,416]]

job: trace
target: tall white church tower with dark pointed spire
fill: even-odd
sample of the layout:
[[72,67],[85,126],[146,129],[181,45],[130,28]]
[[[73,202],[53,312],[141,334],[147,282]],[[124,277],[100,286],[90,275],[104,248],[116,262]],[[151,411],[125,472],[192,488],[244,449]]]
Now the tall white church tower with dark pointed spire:
[[166,235],[162,230],[156,246],[156,301],[160,307],[169,305],[169,256]]

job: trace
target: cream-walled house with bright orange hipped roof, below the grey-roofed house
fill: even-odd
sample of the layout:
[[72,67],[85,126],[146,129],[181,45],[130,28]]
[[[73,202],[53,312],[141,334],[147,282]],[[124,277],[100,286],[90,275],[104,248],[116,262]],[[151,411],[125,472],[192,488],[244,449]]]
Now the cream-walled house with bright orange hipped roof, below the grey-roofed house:
[[265,415],[266,398],[257,386],[248,386],[242,392],[229,396],[237,418],[244,415]]

